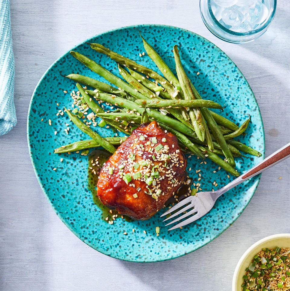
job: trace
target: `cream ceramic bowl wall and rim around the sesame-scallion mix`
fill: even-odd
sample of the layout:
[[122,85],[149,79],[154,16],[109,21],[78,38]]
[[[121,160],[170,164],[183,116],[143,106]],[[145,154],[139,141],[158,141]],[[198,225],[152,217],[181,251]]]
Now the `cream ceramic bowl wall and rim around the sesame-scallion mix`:
[[233,277],[232,290],[241,291],[241,285],[243,283],[243,275],[246,273],[246,268],[250,265],[253,257],[259,253],[262,248],[275,248],[280,247],[290,247],[290,233],[280,233],[267,236],[262,240],[257,241],[252,246],[250,246],[243,256],[240,258]]

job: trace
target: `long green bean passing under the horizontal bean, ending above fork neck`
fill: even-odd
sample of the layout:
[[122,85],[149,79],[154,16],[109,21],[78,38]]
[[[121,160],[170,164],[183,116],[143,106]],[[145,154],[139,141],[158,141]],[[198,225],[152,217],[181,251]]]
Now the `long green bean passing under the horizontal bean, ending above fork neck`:
[[[198,91],[194,88],[193,84],[190,82],[193,94],[195,96],[195,99],[202,99]],[[201,107],[200,108],[201,113],[205,117],[205,120],[207,122],[208,127],[210,128],[215,140],[218,142],[218,144],[221,146],[221,149],[224,153],[224,156],[226,157],[227,161],[232,167],[236,166],[234,157],[227,145],[226,140],[224,139],[224,136],[222,135],[218,124],[215,122],[214,118],[211,115],[211,112],[208,110],[208,108]]]

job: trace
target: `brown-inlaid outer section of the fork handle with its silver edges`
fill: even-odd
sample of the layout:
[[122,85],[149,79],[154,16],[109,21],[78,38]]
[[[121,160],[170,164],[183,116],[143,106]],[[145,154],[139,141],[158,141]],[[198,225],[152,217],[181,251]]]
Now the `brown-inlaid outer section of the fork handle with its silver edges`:
[[263,172],[266,169],[269,169],[275,164],[282,162],[282,160],[287,159],[289,155],[290,155],[290,143],[286,144],[284,147],[281,147],[279,150],[271,154],[269,157],[267,157],[265,160],[257,164],[255,167],[248,170],[245,174],[241,176],[241,178],[243,180],[250,179],[251,177],[256,176],[257,174]]

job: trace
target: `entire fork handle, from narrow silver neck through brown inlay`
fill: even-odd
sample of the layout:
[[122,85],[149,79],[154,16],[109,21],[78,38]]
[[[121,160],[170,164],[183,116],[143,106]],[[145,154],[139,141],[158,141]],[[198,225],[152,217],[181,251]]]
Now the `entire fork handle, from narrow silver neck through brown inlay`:
[[215,193],[217,194],[217,198],[220,197],[225,192],[227,192],[227,190],[230,190],[233,187],[242,183],[243,181],[246,181],[258,175],[259,173],[262,173],[263,171],[273,167],[274,165],[287,159],[289,156],[290,156],[290,143],[286,144],[284,147],[281,147],[279,150],[271,154],[269,157],[266,157],[266,159],[262,160],[259,164],[248,170],[246,173],[242,174],[237,179],[231,181],[226,186],[215,191]]

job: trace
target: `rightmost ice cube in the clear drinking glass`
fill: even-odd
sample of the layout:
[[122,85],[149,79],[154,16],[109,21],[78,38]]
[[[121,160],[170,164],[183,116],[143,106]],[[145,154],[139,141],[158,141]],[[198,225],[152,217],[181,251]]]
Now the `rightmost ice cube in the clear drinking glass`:
[[250,24],[262,24],[268,18],[269,10],[265,4],[259,0],[251,1],[248,12],[245,15]]

